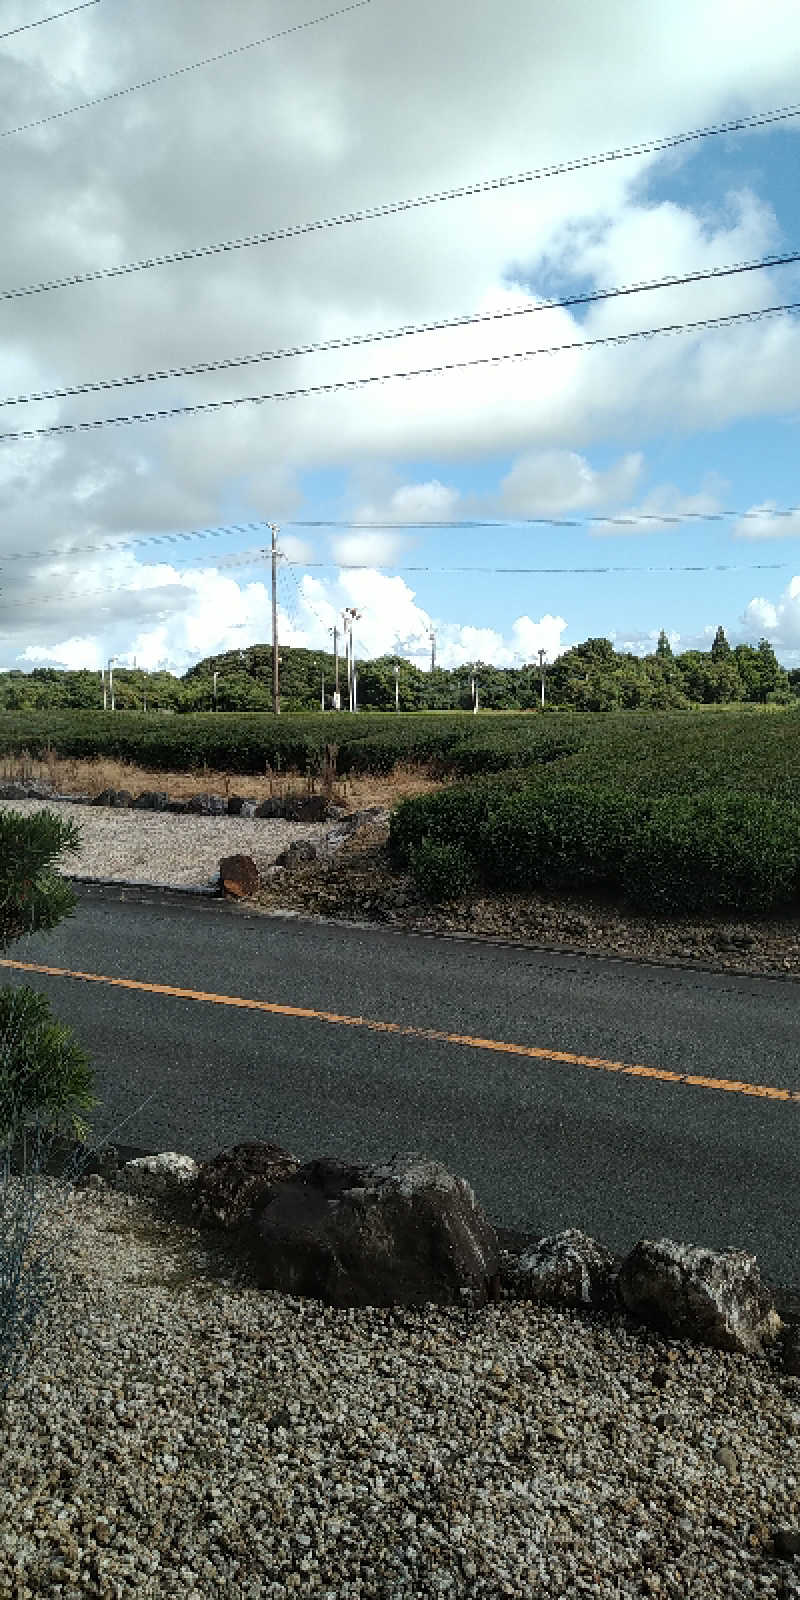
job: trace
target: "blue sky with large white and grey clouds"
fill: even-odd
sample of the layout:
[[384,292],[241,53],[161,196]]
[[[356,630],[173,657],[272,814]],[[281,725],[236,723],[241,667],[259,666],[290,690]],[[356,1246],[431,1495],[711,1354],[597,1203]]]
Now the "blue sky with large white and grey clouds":
[[[795,0],[768,26],[750,0],[94,0],[26,26],[69,3],[0,0],[0,669],[269,642],[270,523],[285,645],[330,650],[352,606],[357,656],[418,666],[430,632],[440,666],[515,666],[718,624],[800,664],[798,312],[579,347],[800,302],[800,266],[550,304],[800,251],[800,115],[584,162],[790,109]],[[488,526],[408,526],[458,522]]]

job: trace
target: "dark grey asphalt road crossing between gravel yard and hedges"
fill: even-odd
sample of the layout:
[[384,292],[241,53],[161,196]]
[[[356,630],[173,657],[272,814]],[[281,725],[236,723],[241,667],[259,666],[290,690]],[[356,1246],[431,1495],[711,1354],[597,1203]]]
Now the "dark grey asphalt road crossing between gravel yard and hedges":
[[659,1235],[736,1245],[771,1282],[800,1285],[800,986],[790,979],[104,891],[83,893],[69,922],[6,960],[154,986],[0,968],[0,982],[42,989],[88,1048],[102,1102],[90,1114],[94,1141],[115,1134],[198,1160],[250,1138],[301,1158],[422,1150],[467,1178],[496,1226],[581,1227],[619,1251]]

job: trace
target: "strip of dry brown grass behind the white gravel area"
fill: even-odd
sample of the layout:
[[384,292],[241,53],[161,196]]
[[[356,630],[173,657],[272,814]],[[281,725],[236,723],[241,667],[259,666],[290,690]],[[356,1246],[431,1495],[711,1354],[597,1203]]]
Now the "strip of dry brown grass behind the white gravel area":
[[[96,758],[91,762],[69,760],[61,755],[34,758],[30,755],[0,757],[0,779],[35,778],[53,784],[59,794],[99,795],[102,789],[130,789],[141,794],[142,789],[166,789],[171,800],[187,800],[189,795],[246,795],[253,800],[267,800],[272,795],[320,794],[322,781],[301,778],[299,774],[269,773],[218,773],[203,768],[198,773],[162,773],[149,766],[134,766],[128,762],[112,758]],[[357,776],[334,779],[331,786],[331,802],[358,811],[363,806],[394,806],[410,795],[429,794],[440,789],[442,781],[430,778],[424,770],[398,766],[387,776]]]

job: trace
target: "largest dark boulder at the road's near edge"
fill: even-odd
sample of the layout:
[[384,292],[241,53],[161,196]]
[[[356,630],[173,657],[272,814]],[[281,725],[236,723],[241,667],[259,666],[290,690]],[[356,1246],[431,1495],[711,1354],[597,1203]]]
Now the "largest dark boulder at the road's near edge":
[[261,1288],[328,1306],[483,1306],[498,1235],[462,1178],[422,1155],[382,1166],[315,1160],[254,1216]]

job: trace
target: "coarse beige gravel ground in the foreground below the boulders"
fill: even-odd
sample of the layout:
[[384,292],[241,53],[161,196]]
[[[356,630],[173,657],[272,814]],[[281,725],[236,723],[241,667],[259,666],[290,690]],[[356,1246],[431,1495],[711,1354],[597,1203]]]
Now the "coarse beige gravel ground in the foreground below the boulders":
[[531,1302],[331,1310],[130,1202],[53,1205],[3,1595],[800,1597],[800,1379]]

